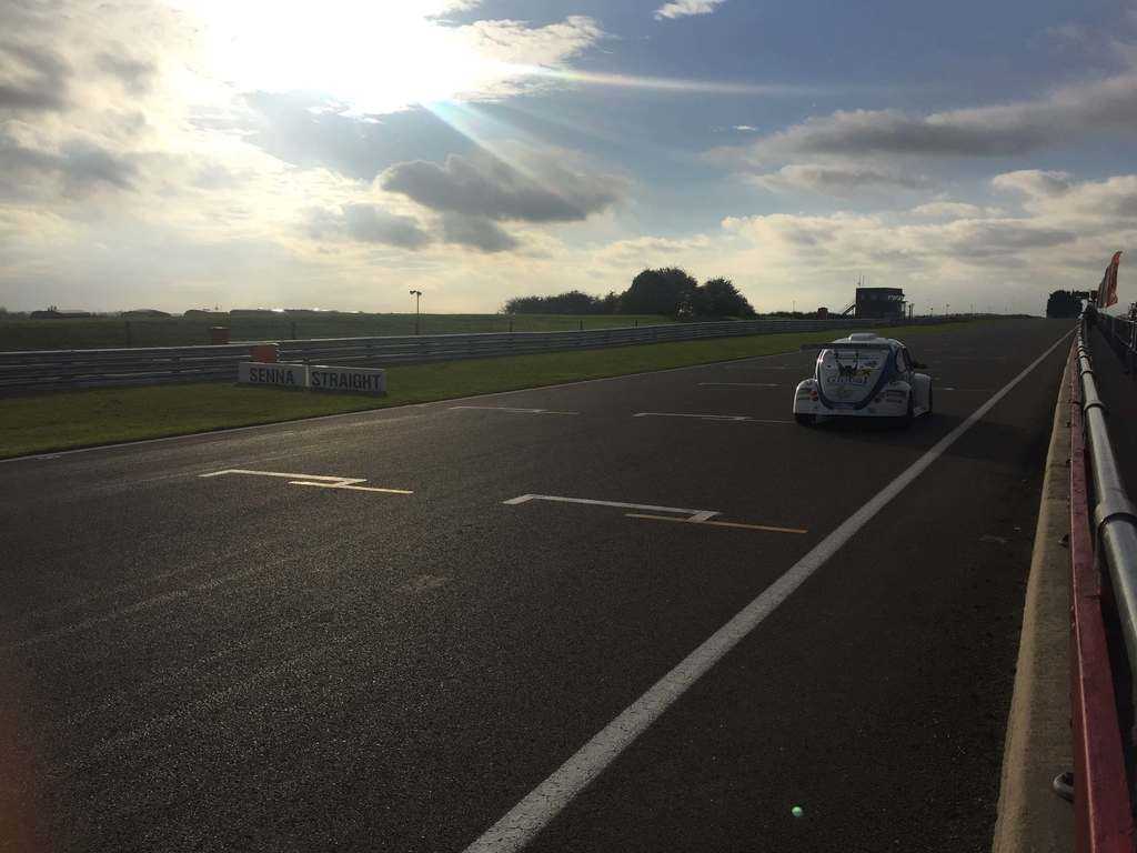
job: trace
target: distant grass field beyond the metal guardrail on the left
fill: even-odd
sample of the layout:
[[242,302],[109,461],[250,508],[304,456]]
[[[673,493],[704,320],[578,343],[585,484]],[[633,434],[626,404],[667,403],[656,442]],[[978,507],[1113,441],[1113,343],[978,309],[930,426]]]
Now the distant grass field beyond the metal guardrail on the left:
[[[130,325],[127,326],[127,322]],[[568,316],[563,314],[423,314],[423,334],[460,332],[554,332],[612,326],[658,325],[669,317],[645,315]],[[197,317],[125,320],[0,318],[0,351],[16,349],[94,349],[99,347],[185,347],[209,343],[209,328],[230,328],[231,339],[292,340],[296,338],[352,338],[380,334],[414,334],[414,314],[312,314],[235,316],[211,314]]]

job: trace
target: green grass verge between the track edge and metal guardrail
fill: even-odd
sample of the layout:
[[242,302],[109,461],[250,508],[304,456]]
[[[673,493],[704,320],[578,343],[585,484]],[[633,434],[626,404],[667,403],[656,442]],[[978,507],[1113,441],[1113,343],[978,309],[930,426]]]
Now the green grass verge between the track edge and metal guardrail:
[[[906,339],[927,331],[927,326],[897,326],[889,333]],[[783,353],[806,341],[831,340],[845,333],[847,330],[823,336],[760,334],[391,367],[387,397],[244,388],[222,382],[9,397],[2,403],[0,458]]]

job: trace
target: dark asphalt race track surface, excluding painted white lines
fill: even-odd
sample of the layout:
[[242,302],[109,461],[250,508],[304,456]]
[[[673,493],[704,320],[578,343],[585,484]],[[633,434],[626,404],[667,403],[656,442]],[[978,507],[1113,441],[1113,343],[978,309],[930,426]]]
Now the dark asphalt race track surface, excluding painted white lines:
[[[2,464],[0,848],[462,851],[1071,326],[911,339],[907,431],[790,423],[790,354]],[[531,848],[987,848],[1067,351]]]

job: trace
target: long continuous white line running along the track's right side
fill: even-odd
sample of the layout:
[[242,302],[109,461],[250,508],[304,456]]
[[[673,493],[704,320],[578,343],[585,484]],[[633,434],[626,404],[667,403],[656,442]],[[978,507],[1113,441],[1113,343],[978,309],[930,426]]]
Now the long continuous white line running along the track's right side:
[[790,569],[747,604],[727,624],[712,633],[694,652],[655,682],[647,693],[632,702],[616,719],[600,729],[551,776],[533,788],[497,823],[476,838],[465,853],[511,853],[529,844],[549,821],[559,814],[589,784],[623,753],[658,717],[673,705],[687,689],[705,676],[728,652],[757,628],[782,602],[823,566],[841,546],[899,495],[929,465],[970,430],[1026,379],[1035,367],[1071,334],[1063,334],[1031,362],[1019,375],[996,391],[985,404],[899,477],[877,492],[829,536],[818,543]]

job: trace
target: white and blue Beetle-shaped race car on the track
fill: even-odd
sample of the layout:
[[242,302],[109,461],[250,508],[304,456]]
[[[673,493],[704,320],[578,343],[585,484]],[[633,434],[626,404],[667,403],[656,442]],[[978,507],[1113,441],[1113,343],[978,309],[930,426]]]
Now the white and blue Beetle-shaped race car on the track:
[[819,417],[897,417],[907,425],[931,414],[931,376],[901,341],[875,332],[857,332],[829,343],[805,343],[820,349],[813,378],[794,392],[794,420],[816,423]]

